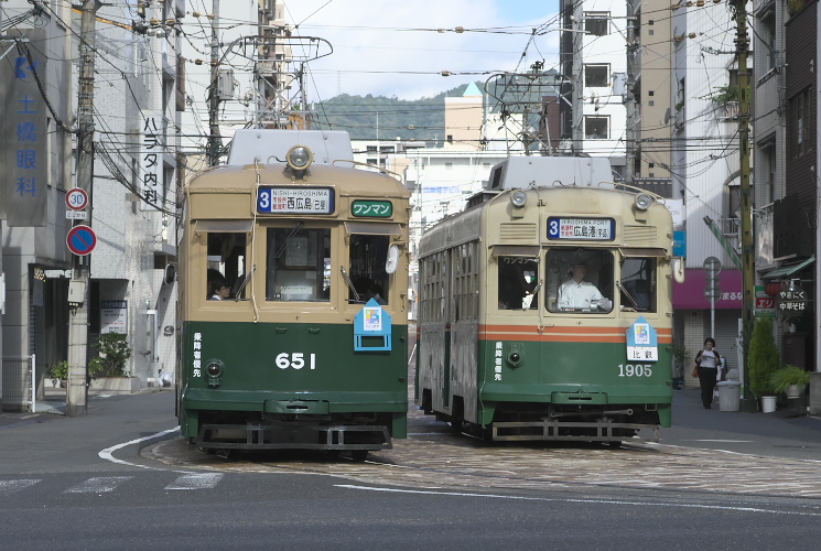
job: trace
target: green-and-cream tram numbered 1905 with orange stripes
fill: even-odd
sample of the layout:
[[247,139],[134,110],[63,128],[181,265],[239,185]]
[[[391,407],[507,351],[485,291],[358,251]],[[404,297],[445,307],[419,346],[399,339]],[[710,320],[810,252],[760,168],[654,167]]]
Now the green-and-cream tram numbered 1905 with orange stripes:
[[494,441],[617,446],[670,426],[672,216],[659,196],[591,180],[609,179],[597,162],[508,159],[424,234],[425,413]]

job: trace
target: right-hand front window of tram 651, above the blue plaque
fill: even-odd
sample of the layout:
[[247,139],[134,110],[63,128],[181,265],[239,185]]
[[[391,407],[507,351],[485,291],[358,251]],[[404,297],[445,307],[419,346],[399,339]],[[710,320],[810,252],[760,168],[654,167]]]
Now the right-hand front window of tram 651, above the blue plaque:
[[[374,299],[379,304],[388,304],[390,277],[385,264],[390,236],[352,234],[349,242],[348,273],[359,302]],[[348,290],[348,301],[356,301],[353,290]]]

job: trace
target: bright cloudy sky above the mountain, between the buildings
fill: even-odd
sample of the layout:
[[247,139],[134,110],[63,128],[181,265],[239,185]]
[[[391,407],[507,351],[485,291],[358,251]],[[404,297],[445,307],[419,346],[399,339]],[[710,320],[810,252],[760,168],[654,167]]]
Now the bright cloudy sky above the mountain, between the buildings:
[[[493,72],[540,60],[551,68],[557,61],[559,33],[530,36],[533,28],[558,26],[557,0],[290,0],[285,6],[287,20],[298,25],[294,34],[333,45],[332,55],[310,64],[310,101],[339,93],[418,99],[484,82]],[[453,32],[457,26],[467,31]],[[440,28],[450,31],[428,31]],[[453,76],[443,77],[442,71]]]

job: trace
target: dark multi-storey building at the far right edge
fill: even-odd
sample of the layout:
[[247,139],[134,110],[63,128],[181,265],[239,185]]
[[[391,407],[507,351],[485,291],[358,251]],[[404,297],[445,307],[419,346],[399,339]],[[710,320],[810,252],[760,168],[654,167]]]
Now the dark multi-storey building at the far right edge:
[[[761,2],[755,12],[756,186],[765,292],[789,285],[808,298],[804,310],[779,312],[781,360],[818,369],[819,123],[818,2]],[[795,333],[793,333],[795,332]],[[811,404],[821,411],[821,402]]]

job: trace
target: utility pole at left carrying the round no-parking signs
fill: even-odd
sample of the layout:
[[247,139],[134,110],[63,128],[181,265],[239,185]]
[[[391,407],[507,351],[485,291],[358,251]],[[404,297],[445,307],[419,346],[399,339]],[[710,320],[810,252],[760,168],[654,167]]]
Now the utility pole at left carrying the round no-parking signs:
[[[77,99],[77,187],[88,194],[91,203],[94,181],[94,61],[96,55],[96,14],[99,0],[84,0],[79,30],[79,94]],[[90,209],[89,209],[90,210]],[[90,223],[90,220],[89,220]],[[68,323],[68,388],[66,413],[85,415],[88,402],[88,281],[90,257],[74,257],[69,282],[72,315]]]

